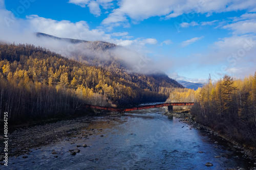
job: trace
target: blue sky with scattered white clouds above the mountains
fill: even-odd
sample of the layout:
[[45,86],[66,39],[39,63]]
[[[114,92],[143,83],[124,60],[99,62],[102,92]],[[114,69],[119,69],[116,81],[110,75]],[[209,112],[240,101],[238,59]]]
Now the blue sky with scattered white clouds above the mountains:
[[0,0],[0,14],[0,40],[50,50],[27,34],[108,41],[149,56],[147,65],[177,80],[256,70],[254,0]]

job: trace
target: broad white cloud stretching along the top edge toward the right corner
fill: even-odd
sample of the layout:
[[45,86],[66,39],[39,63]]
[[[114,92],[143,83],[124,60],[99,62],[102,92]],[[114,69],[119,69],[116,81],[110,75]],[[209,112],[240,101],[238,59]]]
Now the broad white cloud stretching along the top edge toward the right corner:
[[119,3],[119,8],[113,10],[108,18],[102,21],[102,24],[111,27],[121,26],[123,22],[127,22],[127,17],[140,21],[152,16],[168,19],[188,13],[211,15],[211,13],[226,11],[253,10],[255,5],[256,1],[254,0],[123,0]]

